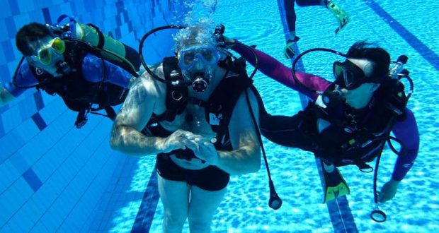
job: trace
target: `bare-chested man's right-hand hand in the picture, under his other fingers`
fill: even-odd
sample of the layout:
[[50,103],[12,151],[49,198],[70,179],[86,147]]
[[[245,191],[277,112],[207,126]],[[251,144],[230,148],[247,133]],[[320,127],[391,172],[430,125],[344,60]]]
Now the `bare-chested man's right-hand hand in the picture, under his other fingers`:
[[215,145],[210,143],[210,141],[203,136],[193,135],[193,137],[189,137],[188,139],[193,142],[188,145],[188,148],[193,150],[196,157],[200,160],[204,160],[208,165],[216,166],[218,164],[219,155]]

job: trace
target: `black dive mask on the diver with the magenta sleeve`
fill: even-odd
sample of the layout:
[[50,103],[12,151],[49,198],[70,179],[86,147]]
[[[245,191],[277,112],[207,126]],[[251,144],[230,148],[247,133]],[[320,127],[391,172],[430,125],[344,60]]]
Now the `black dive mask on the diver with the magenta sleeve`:
[[349,60],[334,62],[332,70],[333,76],[336,78],[334,83],[341,88],[352,90],[366,83],[367,78],[364,71]]

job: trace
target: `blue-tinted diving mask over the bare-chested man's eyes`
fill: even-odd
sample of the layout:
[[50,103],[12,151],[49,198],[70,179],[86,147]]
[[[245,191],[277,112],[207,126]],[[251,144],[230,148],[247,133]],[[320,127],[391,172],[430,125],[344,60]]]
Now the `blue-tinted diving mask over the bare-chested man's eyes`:
[[212,46],[196,46],[183,49],[178,53],[178,66],[183,70],[200,69],[198,66],[216,66],[220,60],[220,54]]

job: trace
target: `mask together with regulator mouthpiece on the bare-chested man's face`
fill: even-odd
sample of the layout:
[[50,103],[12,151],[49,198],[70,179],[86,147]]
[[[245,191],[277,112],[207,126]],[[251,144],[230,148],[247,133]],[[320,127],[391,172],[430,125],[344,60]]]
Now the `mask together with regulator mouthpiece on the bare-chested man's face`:
[[212,46],[200,45],[183,49],[178,53],[178,66],[192,81],[192,88],[196,92],[207,89],[212,69],[220,60],[220,54]]

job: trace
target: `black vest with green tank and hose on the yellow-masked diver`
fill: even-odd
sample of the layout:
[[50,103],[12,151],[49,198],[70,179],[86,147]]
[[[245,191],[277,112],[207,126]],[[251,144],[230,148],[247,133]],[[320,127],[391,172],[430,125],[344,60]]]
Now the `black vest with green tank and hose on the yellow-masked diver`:
[[[104,116],[114,120],[116,114],[111,106],[121,104],[125,100],[128,90],[125,87],[104,82],[103,79],[106,78],[104,60],[123,68],[132,76],[138,77],[139,54],[132,47],[103,34],[95,25],[79,23],[74,18],[66,15],[59,16],[58,23],[65,18],[69,18],[69,24],[64,26],[47,25],[47,27],[53,37],[64,40],[66,50],[63,56],[70,72],[54,78],[42,68],[29,64],[30,70],[38,80],[38,84],[20,85],[16,81],[16,74],[13,82],[19,88],[36,87],[45,90],[50,95],[57,94],[61,96],[69,109],[79,112],[75,122],[78,128],[85,124],[88,112],[98,114],[96,111],[100,109],[105,109],[107,115]],[[86,54],[93,54],[101,58],[103,66],[101,82],[91,83],[84,80],[81,68]],[[22,62],[23,59],[18,64],[16,73]],[[93,108],[93,104],[98,104],[98,107]],[[83,123],[79,125],[79,121]]]

